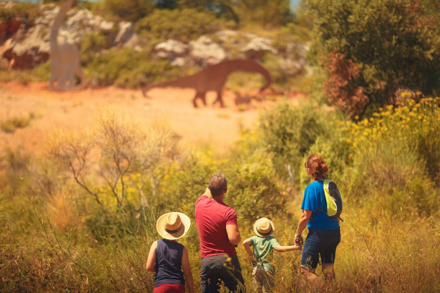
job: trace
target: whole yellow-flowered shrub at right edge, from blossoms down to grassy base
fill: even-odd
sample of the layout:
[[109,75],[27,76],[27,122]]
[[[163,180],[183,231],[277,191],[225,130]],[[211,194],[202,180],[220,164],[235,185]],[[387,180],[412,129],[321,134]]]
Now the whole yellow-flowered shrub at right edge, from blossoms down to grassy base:
[[440,183],[440,98],[408,99],[370,119],[334,124],[336,145],[350,150],[341,179],[353,200],[366,203],[360,195],[367,195],[393,214],[402,207],[431,213]]

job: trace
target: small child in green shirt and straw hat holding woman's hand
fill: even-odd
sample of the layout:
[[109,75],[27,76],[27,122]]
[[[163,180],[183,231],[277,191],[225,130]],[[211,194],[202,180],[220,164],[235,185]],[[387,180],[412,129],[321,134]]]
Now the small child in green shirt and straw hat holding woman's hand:
[[[278,252],[286,252],[292,250],[301,250],[301,246],[281,246],[272,236],[274,232],[274,223],[268,218],[260,218],[253,224],[253,231],[257,236],[252,236],[243,241],[243,246],[249,257],[252,258],[252,277],[253,291],[263,293],[271,292],[275,286],[275,270],[270,260],[272,259],[273,250]],[[253,246],[253,251],[250,250]]]

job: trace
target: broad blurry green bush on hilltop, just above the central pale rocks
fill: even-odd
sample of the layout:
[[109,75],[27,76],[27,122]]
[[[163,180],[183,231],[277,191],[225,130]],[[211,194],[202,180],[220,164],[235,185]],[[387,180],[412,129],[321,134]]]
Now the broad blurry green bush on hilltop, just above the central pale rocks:
[[220,24],[213,11],[157,9],[136,23],[136,32],[157,40],[174,39],[186,43],[216,31]]

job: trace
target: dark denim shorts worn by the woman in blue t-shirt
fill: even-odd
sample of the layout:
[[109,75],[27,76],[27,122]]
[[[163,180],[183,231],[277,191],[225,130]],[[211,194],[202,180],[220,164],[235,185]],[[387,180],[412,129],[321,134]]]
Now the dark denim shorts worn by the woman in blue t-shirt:
[[335,230],[308,229],[301,257],[301,267],[314,270],[318,263],[333,265],[339,242],[341,242],[339,228]]

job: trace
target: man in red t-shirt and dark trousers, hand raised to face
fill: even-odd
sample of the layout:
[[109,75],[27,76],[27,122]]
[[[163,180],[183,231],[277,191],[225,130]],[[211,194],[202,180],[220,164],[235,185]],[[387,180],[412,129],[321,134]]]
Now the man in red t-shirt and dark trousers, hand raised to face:
[[211,177],[205,193],[195,203],[200,238],[202,293],[217,292],[220,280],[230,290],[244,292],[244,280],[235,246],[241,241],[235,210],[223,202],[227,180],[223,173]]

